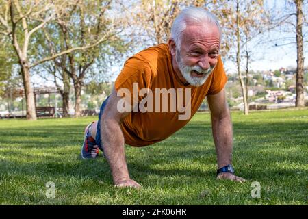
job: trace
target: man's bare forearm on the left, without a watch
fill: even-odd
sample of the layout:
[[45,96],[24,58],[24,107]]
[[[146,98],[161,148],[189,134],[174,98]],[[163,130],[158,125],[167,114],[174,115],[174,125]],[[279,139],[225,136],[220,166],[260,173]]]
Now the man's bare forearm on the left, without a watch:
[[101,121],[101,139],[105,157],[110,165],[114,183],[129,179],[125,159],[125,142],[120,124],[104,118]]

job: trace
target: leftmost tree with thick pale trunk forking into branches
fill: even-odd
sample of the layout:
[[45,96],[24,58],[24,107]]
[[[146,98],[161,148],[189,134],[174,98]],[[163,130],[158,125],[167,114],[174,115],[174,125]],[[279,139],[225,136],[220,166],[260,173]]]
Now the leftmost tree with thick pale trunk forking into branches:
[[29,47],[32,36],[44,25],[62,16],[66,1],[0,1],[0,33],[8,36],[21,68],[27,104],[27,118],[36,120],[34,92],[31,87]]

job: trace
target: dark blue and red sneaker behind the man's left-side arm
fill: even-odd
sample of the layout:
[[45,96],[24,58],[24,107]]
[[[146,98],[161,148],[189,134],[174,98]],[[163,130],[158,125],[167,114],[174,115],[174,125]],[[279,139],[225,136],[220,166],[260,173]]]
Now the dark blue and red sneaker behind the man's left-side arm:
[[95,142],[94,138],[90,136],[89,131],[93,123],[90,123],[87,125],[86,129],[84,129],[84,144],[81,146],[82,159],[96,158],[99,156],[99,146],[97,146],[97,142]]

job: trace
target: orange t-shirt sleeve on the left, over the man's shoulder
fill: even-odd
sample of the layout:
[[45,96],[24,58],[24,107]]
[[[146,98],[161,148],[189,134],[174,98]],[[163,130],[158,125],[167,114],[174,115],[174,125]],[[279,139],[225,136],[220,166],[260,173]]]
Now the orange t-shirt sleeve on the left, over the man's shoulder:
[[[125,95],[133,103],[139,103],[142,96],[139,96],[139,91],[142,88],[149,88],[151,86],[151,68],[149,64],[142,60],[141,57],[130,57],[124,64],[120,75],[116,78],[114,88],[120,96]],[[127,93],[128,92],[128,93]]]

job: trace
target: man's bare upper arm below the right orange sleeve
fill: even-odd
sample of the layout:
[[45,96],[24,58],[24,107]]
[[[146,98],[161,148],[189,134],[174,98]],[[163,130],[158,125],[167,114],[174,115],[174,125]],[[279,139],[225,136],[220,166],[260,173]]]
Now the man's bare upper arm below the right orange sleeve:
[[207,103],[209,104],[212,118],[222,118],[229,114],[224,88],[218,94],[208,95]]

